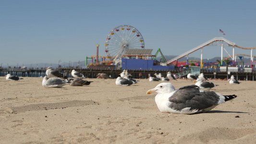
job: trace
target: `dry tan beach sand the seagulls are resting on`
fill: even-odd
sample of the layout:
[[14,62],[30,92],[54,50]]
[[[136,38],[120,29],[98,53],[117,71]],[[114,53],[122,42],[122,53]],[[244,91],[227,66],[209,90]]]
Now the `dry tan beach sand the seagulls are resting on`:
[[[227,81],[212,89],[232,101],[203,114],[161,113],[160,82],[141,79],[118,86],[115,79],[85,79],[88,86],[42,87],[43,78],[0,77],[1,144],[256,144],[256,82]],[[173,81],[175,88],[194,84]]]

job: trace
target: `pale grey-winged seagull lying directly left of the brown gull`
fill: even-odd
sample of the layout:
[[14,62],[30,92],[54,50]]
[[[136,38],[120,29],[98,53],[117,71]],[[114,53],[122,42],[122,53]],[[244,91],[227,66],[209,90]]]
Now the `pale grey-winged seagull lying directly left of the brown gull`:
[[71,82],[69,82],[67,79],[45,76],[42,85],[43,87],[62,87],[69,83]]

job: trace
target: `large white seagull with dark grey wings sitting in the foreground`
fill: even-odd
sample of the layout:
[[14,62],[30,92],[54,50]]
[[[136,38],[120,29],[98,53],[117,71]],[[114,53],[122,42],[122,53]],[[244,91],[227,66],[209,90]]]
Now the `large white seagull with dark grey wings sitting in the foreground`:
[[197,85],[188,85],[175,90],[171,83],[161,83],[146,94],[157,93],[155,101],[161,112],[176,114],[203,113],[211,110],[236,95],[224,96],[213,91],[204,91]]

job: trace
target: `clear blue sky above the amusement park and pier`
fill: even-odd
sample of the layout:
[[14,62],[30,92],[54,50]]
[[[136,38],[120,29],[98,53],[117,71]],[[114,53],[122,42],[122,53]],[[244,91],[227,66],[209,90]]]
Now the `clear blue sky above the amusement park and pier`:
[[[97,44],[106,56],[106,37],[119,25],[139,30],[152,54],[160,48],[180,55],[223,36],[219,29],[238,46],[256,47],[255,6],[255,0],[0,0],[0,64],[83,61],[96,55]],[[200,51],[189,56],[200,58]],[[219,47],[204,48],[204,58],[218,56]]]

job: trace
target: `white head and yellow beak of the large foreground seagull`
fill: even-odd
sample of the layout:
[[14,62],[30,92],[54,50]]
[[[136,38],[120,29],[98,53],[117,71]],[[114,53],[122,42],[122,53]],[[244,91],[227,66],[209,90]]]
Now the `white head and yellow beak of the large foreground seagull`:
[[175,91],[174,86],[171,83],[161,83],[158,84],[155,88],[150,89],[146,92],[146,94],[158,93],[158,94],[166,94]]

